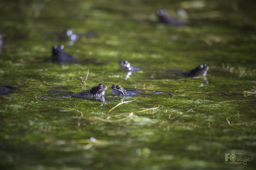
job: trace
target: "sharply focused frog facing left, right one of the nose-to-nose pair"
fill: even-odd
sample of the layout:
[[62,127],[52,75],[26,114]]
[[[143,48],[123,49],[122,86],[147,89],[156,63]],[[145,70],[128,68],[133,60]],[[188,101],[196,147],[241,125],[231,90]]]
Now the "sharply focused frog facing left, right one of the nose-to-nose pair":
[[135,95],[156,95],[161,93],[168,93],[170,97],[173,96],[172,93],[167,91],[159,91],[159,92],[153,92],[153,93],[141,93],[141,92],[132,92],[132,91],[145,91],[144,89],[127,89],[124,90],[120,85],[116,86],[115,84],[111,87],[112,95],[125,95],[125,96],[135,96]]

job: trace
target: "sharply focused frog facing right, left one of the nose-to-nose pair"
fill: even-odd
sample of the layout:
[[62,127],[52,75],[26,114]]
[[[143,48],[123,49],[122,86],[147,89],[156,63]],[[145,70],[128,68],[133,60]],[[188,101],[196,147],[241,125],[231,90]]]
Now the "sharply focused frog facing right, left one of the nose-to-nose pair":
[[91,89],[84,90],[79,93],[75,93],[73,91],[62,91],[64,89],[59,88],[59,89],[47,91],[47,93],[66,93],[66,94],[63,96],[43,95],[41,98],[45,98],[46,96],[57,97],[57,98],[81,97],[81,98],[88,98],[88,99],[93,98],[99,101],[105,101],[104,97],[101,98],[101,96],[105,94],[106,89],[107,89],[107,86],[103,85],[102,83],[100,83],[98,86],[94,86]]

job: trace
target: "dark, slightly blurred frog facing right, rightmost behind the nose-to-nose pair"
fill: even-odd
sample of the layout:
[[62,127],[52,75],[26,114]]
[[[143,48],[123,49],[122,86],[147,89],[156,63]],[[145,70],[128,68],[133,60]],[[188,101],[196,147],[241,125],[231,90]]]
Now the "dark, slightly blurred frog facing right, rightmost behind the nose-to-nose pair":
[[152,79],[154,79],[154,75],[165,75],[165,76],[188,76],[188,77],[197,77],[200,75],[205,76],[207,71],[209,70],[209,67],[206,64],[199,65],[198,67],[194,68],[193,70],[189,71],[180,71],[176,72],[174,74],[161,74],[161,73],[153,73],[150,75]]

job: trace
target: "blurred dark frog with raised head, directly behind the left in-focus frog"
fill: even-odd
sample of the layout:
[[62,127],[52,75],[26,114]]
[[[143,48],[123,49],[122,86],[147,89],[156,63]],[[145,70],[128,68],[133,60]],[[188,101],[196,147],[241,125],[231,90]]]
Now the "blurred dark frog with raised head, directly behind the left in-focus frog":
[[52,56],[51,59],[53,62],[57,62],[58,64],[63,64],[63,63],[83,63],[83,62],[91,62],[94,64],[106,64],[109,62],[102,62],[102,63],[98,63],[95,59],[84,59],[84,60],[80,60],[78,58],[76,58],[73,55],[68,54],[65,50],[64,50],[64,46],[54,46],[52,47]]

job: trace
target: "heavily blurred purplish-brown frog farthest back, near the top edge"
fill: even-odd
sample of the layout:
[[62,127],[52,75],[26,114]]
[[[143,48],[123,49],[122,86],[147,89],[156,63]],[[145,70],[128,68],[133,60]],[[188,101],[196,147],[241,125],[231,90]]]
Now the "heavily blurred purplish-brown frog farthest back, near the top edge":
[[170,15],[167,14],[166,9],[158,10],[157,15],[160,22],[164,22],[173,26],[185,26],[186,23],[182,22],[179,19],[173,18]]

